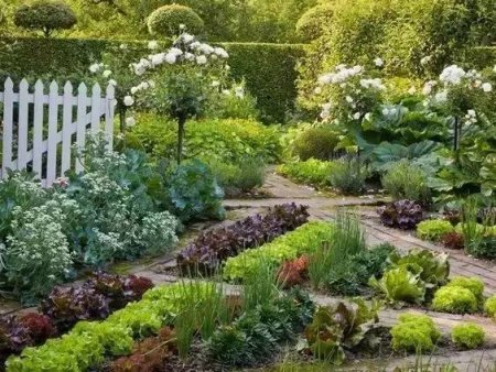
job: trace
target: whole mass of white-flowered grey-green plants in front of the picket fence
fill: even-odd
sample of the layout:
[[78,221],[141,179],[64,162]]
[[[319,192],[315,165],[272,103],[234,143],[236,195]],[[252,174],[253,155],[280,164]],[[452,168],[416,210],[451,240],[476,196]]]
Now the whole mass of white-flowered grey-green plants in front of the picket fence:
[[106,142],[91,139],[84,156],[85,173],[50,189],[17,173],[0,182],[1,289],[24,303],[82,266],[159,253],[177,242],[180,222],[151,197],[147,183],[155,174],[142,158],[108,152]]

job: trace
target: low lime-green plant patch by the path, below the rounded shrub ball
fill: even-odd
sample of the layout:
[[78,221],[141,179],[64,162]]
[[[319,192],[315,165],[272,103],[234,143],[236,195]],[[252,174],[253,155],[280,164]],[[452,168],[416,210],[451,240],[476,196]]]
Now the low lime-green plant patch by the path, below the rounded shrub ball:
[[299,183],[325,187],[331,185],[331,173],[334,168],[333,162],[309,158],[304,162],[283,164],[278,167],[278,172]]

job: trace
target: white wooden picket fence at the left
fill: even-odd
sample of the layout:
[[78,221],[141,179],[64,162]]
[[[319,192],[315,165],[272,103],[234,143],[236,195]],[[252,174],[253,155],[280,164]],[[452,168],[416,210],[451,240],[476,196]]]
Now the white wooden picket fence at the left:
[[109,147],[112,146],[115,89],[111,85],[104,97],[99,85],[94,85],[88,97],[84,84],[74,95],[67,81],[61,96],[55,81],[45,95],[41,80],[32,94],[25,79],[14,89],[8,78],[3,92],[0,91],[0,108],[3,108],[0,178],[7,176],[8,169],[28,168],[36,173],[43,186],[50,187],[67,171],[83,171],[73,146],[84,147],[88,133],[105,130]]

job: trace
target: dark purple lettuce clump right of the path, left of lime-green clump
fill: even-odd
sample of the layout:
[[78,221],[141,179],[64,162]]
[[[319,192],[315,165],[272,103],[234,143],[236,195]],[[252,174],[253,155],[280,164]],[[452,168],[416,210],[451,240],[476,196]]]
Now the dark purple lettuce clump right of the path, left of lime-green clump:
[[411,230],[423,220],[422,206],[413,200],[398,200],[379,207],[380,221],[388,227]]

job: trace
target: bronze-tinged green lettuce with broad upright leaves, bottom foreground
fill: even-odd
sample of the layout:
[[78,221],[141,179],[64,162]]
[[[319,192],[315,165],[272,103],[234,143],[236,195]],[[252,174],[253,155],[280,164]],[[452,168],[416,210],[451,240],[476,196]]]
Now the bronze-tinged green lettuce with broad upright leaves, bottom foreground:
[[305,329],[305,338],[312,353],[332,364],[341,365],[345,350],[353,350],[370,337],[378,321],[380,304],[367,306],[363,298],[351,304],[339,302],[335,306],[320,307],[313,322]]

